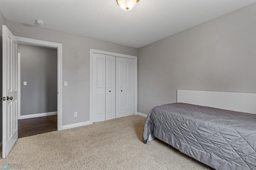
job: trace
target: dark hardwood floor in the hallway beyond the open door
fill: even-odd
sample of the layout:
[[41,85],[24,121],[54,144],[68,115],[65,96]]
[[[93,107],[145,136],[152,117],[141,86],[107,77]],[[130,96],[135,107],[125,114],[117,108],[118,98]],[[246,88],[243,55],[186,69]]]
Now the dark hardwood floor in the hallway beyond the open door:
[[57,130],[57,115],[18,120],[18,138]]

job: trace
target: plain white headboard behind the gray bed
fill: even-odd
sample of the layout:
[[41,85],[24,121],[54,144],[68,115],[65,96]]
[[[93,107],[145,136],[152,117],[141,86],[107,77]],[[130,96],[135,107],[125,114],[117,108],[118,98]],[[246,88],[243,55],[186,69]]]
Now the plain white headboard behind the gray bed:
[[256,114],[256,93],[177,90],[177,102]]

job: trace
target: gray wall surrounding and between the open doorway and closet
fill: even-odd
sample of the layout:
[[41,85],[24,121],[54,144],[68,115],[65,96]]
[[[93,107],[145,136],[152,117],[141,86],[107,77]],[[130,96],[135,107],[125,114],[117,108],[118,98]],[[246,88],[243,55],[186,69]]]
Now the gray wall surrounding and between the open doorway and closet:
[[[103,42],[73,34],[28,26],[6,21],[14,36],[62,43],[63,47],[63,125],[89,121],[90,119],[90,48],[127,55],[138,55],[138,49]],[[86,31],[86,28],[84,28]],[[78,112],[78,117],[74,117]]]

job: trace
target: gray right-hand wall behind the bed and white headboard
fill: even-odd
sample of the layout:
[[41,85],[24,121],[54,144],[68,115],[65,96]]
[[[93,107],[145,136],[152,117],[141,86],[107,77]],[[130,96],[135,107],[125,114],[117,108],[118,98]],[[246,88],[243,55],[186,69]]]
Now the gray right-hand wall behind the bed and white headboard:
[[138,111],[177,89],[256,93],[256,4],[139,49]]

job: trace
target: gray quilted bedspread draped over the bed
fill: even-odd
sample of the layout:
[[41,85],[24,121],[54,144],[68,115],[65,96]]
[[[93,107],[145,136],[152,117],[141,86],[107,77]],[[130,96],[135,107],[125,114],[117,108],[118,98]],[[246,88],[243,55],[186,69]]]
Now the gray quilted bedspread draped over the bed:
[[219,170],[256,170],[256,114],[172,103],[154,107],[142,140],[150,134]]

